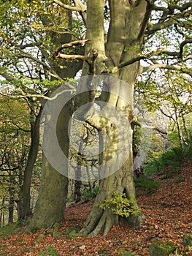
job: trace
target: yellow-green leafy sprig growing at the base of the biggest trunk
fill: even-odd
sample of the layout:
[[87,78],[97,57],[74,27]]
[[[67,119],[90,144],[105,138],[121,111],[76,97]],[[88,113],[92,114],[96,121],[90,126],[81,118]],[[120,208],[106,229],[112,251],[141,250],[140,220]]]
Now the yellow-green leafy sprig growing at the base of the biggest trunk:
[[125,193],[118,194],[112,193],[110,199],[104,200],[104,203],[100,203],[99,207],[102,209],[111,208],[114,214],[118,214],[122,217],[128,217],[131,214],[139,214],[139,207],[136,205],[134,199],[128,199]]

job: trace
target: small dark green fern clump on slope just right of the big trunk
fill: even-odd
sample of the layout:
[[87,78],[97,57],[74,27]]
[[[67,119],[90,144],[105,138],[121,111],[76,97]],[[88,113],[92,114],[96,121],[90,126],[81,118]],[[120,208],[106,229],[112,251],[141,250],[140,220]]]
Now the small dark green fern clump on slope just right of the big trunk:
[[158,181],[153,181],[152,178],[147,178],[145,175],[139,176],[135,181],[135,187],[144,190],[147,194],[155,192],[159,186]]

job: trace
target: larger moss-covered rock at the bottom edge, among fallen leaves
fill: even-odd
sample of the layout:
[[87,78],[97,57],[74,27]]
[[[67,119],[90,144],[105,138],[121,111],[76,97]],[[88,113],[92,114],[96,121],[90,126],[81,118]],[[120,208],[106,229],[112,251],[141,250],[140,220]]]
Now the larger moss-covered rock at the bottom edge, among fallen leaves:
[[176,247],[169,241],[158,241],[149,246],[150,256],[166,256],[176,251]]

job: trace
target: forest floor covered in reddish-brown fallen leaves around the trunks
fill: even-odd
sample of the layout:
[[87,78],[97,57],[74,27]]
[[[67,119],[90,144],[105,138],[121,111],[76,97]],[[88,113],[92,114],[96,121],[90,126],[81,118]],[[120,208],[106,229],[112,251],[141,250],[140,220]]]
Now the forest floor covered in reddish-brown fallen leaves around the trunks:
[[[150,195],[141,195],[139,192],[137,197],[146,217],[139,229],[130,229],[120,224],[104,237],[69,238],[66,229],[82,226],[93,205],[93,200],[81,201],[66,208],[66,222],[58,229],[22,234],[18,229],[11,230],[12,227],[1,228],[0,255],[145,256],[149,255],[149,245],[155,241],[172,241],[180,248],[180,255],[184,255],[183,235],[192,233],[191,162],[185,162],[180,173],[172,178],[153,178],[161,182],[158,190]],[[189,250],[191,252],[185,255],[192,255],[192,248]]]

